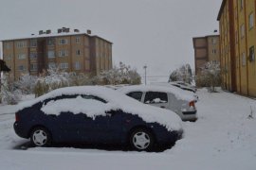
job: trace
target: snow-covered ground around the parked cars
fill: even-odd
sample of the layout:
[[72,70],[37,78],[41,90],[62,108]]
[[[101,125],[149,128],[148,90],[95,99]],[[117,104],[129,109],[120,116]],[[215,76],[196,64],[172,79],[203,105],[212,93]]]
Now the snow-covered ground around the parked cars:
[[[184,138],[160,153],[34,147],[13,131],[15,106],[0,106],[0,169],[256,169],[256,100],[199,90],[199,119]],[[253,112],[253,119],[248,115]]]

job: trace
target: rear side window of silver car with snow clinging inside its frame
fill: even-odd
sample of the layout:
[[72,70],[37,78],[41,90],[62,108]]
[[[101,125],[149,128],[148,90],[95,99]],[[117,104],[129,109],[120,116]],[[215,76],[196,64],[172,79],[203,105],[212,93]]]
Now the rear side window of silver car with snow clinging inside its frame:
[[159,92],[147,92],[145,95],[144,103],[167,103],[168,97],[167,93]]

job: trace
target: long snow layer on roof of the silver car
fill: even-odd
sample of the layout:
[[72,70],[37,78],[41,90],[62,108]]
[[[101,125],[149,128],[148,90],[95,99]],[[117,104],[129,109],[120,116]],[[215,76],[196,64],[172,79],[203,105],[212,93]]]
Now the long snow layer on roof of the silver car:
[[192,93],[183,91],[177,87],[174,86],[162,86],[162,85],[134,85],[134,86],[127,86],[120,88],[118,90],[120,93],[131,93],[131,92],[148,92],[148,91],[154,91],[154,92],[161,92],[161,93],[174,93],[177,99],[180,100],[187,100],[192,101],[194,100],[194,97]]

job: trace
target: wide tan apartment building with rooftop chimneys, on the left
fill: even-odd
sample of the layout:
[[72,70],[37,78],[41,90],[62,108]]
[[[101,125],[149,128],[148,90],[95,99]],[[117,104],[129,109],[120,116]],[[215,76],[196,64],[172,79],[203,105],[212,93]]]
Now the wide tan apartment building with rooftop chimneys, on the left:
[[78,29],[63,27],[57,33],[40,30],[22,39],[4,40],[3,59],[10,68],[10,79],[24,73],[37,76],[59,66],[67,72],[99,75],[112,69],[112,42]]

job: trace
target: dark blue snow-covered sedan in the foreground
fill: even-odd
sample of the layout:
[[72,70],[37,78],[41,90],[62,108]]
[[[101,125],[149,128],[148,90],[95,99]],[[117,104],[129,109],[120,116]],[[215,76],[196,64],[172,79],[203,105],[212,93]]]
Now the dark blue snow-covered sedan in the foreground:
[[14,130],[32,144],[131,144],[150,150],[180,139],[180,118],[100,86],[68,87],[19,104]]

